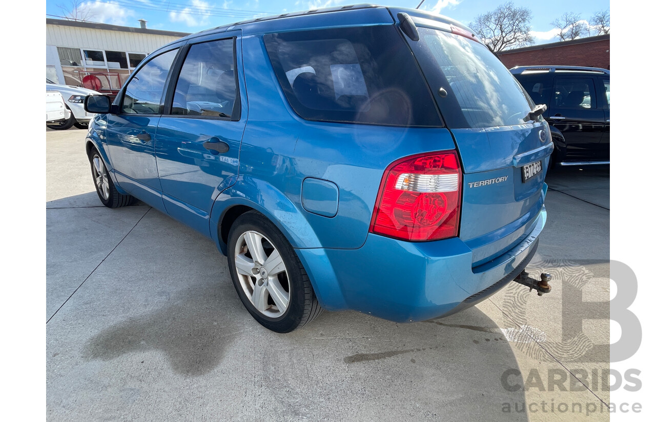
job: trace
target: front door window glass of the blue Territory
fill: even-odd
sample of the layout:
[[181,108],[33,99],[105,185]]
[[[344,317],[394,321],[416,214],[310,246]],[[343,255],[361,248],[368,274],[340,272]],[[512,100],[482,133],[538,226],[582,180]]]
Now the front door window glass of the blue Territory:
[[125,88],[121,113],[161,114],[164,85],[177,52],[160,54],[139,69]]

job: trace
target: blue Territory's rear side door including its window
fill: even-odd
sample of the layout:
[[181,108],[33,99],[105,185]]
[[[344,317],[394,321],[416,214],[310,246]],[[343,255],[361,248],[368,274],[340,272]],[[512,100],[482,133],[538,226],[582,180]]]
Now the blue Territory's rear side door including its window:
[[246,122],[236,35],[224,33],[222,39],[185,47],[155,139],[167,213],[208,236],[214,200],[234,183]]

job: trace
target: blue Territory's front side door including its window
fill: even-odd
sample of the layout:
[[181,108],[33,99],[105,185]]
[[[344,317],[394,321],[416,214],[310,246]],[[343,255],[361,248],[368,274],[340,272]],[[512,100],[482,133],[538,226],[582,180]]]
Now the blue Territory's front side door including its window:
[[159,54],[141,67],[119,99],[119,112],[107,115],[107,150],[119,186],[162,210],[155,134],[164,87],[177,52]]

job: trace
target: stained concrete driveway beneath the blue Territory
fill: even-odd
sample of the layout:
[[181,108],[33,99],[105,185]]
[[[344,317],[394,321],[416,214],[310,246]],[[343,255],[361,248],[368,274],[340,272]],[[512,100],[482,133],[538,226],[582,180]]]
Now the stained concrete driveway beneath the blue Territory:
[[609,419],[594,376],[609,367],[608,169],[548,176],[529,266],[554,275],[542,298],[512,283],[446,319],[325,312],[276,334],[212,241],[148,205],[102,206],[85,134],[46,136],[49,421]]

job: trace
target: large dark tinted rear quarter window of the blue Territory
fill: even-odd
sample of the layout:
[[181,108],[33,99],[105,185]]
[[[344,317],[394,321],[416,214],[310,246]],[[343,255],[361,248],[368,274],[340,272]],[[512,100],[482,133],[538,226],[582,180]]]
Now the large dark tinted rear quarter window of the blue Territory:
[[270,34],[264,44],[287,101],[306,120],[442,126],[393,26]]

